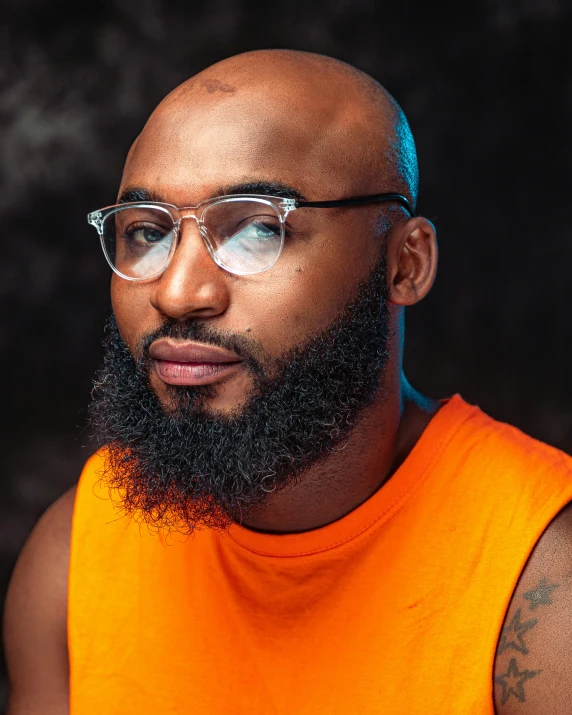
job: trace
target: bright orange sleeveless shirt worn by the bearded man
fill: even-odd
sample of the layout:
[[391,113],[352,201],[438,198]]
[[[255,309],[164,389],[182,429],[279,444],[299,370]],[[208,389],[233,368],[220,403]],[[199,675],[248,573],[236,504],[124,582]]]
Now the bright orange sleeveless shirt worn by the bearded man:
[[456,396],[367,502],[324,528],[193,538],[79,482],[71,715],[492,715],[503,617],[572,501],[572,460]]

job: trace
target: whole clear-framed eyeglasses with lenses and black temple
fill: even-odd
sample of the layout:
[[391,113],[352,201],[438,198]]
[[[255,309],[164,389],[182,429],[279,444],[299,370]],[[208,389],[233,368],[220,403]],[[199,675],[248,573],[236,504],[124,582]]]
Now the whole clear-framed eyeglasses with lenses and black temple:
[[178,208],[159,202],[129,202],[93,211],[87,217],[101,238],[111,268],[129,281],[159,276],[177,248],[181,221],[196,221],[213,261],[229,273],[247,276],[276,263],[284,246],[288,214],[296,209],[393,202],[413,215],[400,194],[358,196],[336,201],[300,201],[277,196],[237,194]]

